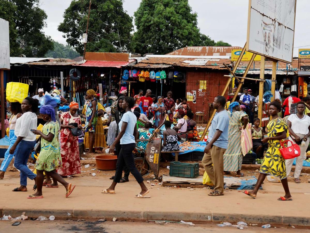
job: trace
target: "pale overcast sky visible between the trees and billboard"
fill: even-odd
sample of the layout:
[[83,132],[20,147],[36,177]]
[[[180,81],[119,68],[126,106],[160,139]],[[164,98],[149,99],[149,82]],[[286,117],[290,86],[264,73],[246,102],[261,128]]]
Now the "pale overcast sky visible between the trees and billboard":
[[[285,0],[283,0],[285,1]],[[70,0],[41,0],[41,8],[47,13],[45,34],[60,43],[66,44],[66,39],[57,30],[63,21],[64,10],[69,7]],[[123,7],[133,16],[140,0],[124,0]],[[189,0],[193,12],[198,14],[198,27],[201,33],[209,35],[215,41],[223,40],[232,46],[243,47],[246,42],[248,0]],[[310,48],[310,14],[309,0],[297,0],[294,57],[298,56],[298,48]]]

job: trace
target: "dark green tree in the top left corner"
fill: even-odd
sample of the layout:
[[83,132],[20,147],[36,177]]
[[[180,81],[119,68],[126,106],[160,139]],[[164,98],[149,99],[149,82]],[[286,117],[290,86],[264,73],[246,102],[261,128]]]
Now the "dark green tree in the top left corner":
[[39,0],[0,0],[0,12],[10,23],[11,56],[42,57],[53,48],[51,38],[42,31],[47,15]]

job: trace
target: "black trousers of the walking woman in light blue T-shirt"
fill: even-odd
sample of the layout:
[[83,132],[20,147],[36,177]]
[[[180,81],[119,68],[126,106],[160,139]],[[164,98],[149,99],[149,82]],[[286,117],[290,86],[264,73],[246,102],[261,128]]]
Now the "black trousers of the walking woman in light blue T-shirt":
[[132,153],[133,149],[135,148],[135,143],[130,144],[122,144],[121,151],[118,154],[117,163],[116,163],[116,171],[114,175],[114,182],[119,183],[119,181],[122,178],[123,174],[123,167],[126,165],[126,167],[129,168],[129,171],[131,174],[135,177],[135,179],[140,184],[143,182],[143,178],[138,171],[138,169],[135,167],[134,162],[134,155]]

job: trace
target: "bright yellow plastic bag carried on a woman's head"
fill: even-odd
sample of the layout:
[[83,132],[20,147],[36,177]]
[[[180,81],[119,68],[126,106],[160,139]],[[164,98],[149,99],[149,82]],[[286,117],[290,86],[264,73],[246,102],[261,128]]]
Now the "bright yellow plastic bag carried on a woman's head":
[[22,103],[23,99],[28,96],[29,85],[24,83],[9,82],[7,83],[7,101]]

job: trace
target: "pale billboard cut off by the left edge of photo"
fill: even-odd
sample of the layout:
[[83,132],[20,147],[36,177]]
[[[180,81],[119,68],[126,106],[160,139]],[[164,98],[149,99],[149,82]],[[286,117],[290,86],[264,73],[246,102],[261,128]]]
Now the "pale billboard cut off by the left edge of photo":
[[0,69],[10,69],[9,22],[0,18]]

